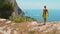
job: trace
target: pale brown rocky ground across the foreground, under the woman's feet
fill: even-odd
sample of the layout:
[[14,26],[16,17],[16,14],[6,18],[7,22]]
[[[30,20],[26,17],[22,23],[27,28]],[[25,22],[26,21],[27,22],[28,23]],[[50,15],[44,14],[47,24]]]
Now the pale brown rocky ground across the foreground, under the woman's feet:
[[60,22],[15,23],[10,20],[0,19],[0,34],[60,34]]

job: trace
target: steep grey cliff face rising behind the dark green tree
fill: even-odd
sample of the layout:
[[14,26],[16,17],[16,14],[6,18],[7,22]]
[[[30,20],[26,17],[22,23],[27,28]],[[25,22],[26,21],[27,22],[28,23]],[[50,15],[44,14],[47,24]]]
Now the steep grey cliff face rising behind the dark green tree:
[[13,17],[23,16],[24,12],[18,7],[16,0],[0,0],[2,2],[11,2],[14,5],[14,12],[12,13]]

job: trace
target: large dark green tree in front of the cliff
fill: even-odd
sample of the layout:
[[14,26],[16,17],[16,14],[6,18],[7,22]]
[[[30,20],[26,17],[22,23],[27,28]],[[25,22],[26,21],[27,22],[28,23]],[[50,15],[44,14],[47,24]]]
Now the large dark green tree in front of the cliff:
[[8,19],[14,11],[13,3],[0,2],[0,17]]

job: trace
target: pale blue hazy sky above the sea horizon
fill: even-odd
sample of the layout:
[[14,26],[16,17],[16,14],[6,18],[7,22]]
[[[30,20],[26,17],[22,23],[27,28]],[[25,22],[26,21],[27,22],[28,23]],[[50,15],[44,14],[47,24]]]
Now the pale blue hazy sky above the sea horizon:
[[60,0],[16,0],[21,9],[60,9]]

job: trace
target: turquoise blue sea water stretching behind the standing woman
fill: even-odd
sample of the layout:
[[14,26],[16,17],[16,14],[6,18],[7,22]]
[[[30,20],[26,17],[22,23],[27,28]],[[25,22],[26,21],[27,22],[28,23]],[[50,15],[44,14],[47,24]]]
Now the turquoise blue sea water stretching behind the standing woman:
[[[29,17],[32,17],[32,18],[35,18],[37,21],[41,21],[43,22],[43,17],[42,17],[42,14],[43,14],[43,10],[39,10],[39,9],[27,9],[27,10],[24,10],[25,12],[25,15],[26,16],[29,16]],[[47,21],[48,22],[53,22],[53,21],[60,21],[60,10],[57,10],[57,9],[49,9],[48,10],[49,12],[49,16],[47,18]]]

